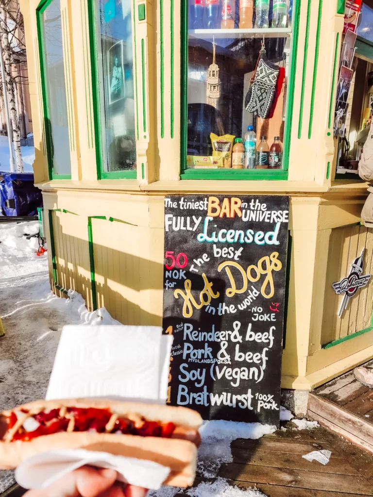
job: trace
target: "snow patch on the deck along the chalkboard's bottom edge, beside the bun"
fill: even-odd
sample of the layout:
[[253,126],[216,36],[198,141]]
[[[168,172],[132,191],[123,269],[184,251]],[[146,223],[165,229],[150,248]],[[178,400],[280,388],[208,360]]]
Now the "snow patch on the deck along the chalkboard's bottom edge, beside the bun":
[[206,478],[214,478],[223,463],[233,461],[230,444],[236,438],[257,440],[276,431],[276,426],[235,421],[204,421],[199,429],[202,443],[198,450],[198,472]]

